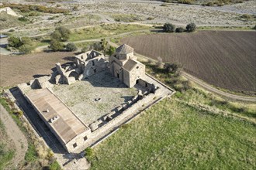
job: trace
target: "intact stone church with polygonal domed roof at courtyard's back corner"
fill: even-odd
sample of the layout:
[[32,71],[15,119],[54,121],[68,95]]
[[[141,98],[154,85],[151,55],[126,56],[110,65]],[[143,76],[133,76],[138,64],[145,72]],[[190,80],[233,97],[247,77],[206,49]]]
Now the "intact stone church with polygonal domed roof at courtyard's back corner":
[[145,75],[145,65],[137,61],[133,48],[126,44],[119,46],[109,57],[109,70],[128,87],[133,87]]

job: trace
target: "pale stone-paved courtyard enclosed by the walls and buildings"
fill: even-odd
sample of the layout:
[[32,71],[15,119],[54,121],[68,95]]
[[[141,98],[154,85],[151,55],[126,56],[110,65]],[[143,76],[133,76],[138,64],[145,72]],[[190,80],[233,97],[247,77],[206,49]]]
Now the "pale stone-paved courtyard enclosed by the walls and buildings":
[[86,125],[108,114],[137,94],[136,88],[126,87],[107,71],[71,85],[56,85],[53,90],[54,94]]

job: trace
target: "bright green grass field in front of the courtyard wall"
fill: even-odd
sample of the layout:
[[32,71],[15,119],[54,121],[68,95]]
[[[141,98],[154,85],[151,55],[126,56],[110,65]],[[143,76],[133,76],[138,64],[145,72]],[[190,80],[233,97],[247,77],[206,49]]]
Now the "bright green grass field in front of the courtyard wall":
[[256,128],[165,99],[95,149],[92,169],[253,169]]

